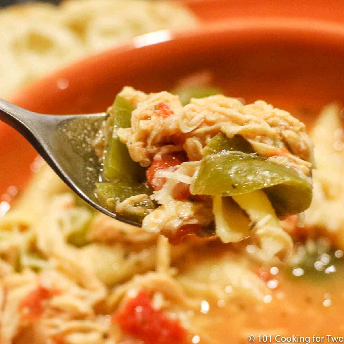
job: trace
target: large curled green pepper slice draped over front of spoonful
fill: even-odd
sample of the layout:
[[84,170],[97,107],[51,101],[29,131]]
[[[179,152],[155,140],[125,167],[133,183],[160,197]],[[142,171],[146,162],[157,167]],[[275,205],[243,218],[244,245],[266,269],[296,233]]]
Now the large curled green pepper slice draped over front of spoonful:
[[312,185],[295,171],[256,153],[221,151],[202,158],[192,194],[233,196],[264,189],[279,217],[306,210]]

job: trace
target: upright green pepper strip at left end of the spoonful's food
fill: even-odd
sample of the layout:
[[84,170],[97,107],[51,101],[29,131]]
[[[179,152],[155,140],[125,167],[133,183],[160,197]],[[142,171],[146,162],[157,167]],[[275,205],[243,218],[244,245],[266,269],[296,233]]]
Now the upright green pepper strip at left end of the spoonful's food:
[[131,159],[127,146],[117,136],[118,128],[130,127],[131,112],[134,109],[127,100],[117,96],[109,111],[107,126],[111,130],[104,159],[104,176],[107,180],[135,182],[144,178],[144,168]]

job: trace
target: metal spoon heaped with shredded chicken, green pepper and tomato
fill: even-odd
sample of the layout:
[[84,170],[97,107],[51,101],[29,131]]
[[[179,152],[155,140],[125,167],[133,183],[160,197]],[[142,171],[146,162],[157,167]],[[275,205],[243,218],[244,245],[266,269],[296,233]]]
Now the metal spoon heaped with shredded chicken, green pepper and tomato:
[[87,203],[120,221],[183,237],[252,237],[269,256],[292,247],[279,219],[312,198],[312,144],[287,111],[244,105],[215,89],[197,98],[125,87],[106,113],[42,115],[0,103],[0,119],[29,140]]

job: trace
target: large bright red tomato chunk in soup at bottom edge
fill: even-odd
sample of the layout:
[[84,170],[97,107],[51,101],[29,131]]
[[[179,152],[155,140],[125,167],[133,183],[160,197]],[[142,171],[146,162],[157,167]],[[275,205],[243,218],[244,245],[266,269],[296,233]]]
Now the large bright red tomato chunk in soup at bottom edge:
[[149,294],[144,290],[114,314],[112,321],[117,322],[123,332],[146,344],[184,343],[187,335],[178,321],[168,319],[152,307]]

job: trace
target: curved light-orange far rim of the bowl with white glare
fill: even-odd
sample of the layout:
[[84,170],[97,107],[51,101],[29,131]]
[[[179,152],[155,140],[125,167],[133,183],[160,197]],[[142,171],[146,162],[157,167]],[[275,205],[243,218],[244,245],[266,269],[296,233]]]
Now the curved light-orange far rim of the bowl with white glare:
[[[56,83],[62,76],[78,75],[83,70],[99,65],[109,58],[115,58],[123,53],[140,49],[160,49],[164,44],[196,43],[211,44],[214,39],[225,35],[232,42],[248,42],[248,37],[254,42],[269,42],[271,40],[283,42],[299,42],[336,47],[344,50],[344,23],[319,21],[312,19],[290,18],[237,18],[215,23],[203,24],[201,27],[188,31],[172,31],[169,29],[154,31],[134,37],[127,43],[112,49],[93,54],[73,62],[49,74],[7,97],[14,104],[23,103],[24,99],[32,97],[37,88],[45,88]],[[25,102],[24,102],[25,103]]]

